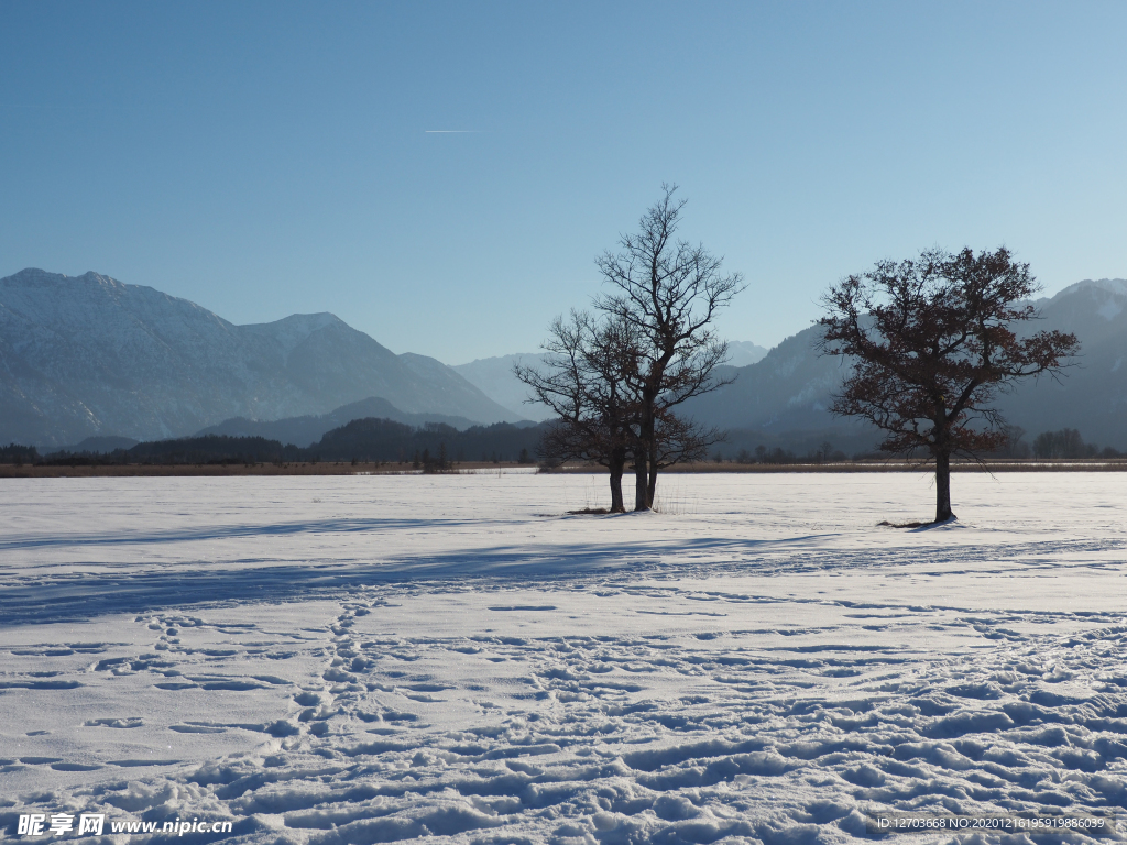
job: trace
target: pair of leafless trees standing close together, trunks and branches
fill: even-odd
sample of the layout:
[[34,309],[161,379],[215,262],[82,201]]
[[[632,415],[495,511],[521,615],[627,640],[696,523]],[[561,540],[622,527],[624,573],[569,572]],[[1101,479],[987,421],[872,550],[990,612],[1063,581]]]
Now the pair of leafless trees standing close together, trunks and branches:
[[620,251],[596,259],[610,290],[595,297],[593,312],[552,322],[545,366],[514,368],[559,417],[544,452],[610,469],[612,512],[624,509],[627,461],[635,469],[635,509],[647,510],[659,469],[702,459],[720,438],[673,409],[726,383],[713,375],[727,344],[712,321],[743,290],[743,278],[722,275],[721,259],[702,246],[675,240],[684,207],[675,190],[664,185],[638,233],[622,235]]

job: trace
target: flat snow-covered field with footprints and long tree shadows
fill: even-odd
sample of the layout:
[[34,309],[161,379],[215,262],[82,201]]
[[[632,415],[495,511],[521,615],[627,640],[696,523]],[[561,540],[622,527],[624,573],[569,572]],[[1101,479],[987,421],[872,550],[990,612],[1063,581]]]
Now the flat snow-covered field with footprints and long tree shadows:
[[876,524],[926,518],[922,474],[565,514],[603,487],[0,482],[0,839],[799,845],[1127,802],[1127,474],[959,474],[920,531]]

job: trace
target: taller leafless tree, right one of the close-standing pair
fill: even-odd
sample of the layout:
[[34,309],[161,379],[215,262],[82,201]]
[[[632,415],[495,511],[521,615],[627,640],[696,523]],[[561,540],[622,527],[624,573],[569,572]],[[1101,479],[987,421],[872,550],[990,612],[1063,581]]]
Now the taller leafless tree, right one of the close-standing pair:
[[598,296],[595,308],[631,327],[639,344],[637,510],[653,507],[657,471],[665,460],[659,421],[672,419],[671,409],[685,400],[728,383],[713,375],[727,358],[728,345],[711,326],[719,310],[744,290],[740,274],[720,273],[722,258],[701,244],[675,240],[685,202],[674,199],[675,185],[662,189],[664,196],[642,215],[638,233],[622,235],[618,252],[596,260],[613,291]]

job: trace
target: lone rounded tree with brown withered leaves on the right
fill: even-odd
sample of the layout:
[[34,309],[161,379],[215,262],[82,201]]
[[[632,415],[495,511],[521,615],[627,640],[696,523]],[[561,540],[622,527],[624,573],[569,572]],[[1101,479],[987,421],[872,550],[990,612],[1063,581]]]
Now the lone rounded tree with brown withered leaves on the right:
[[1038,290],[1029,265],[1003,247],[879,261],[824,297],[822,352],[852,364],[831,411],[882,429],[886,452],[935,462],[935,522],[953,516],[951,456],[978,460],[1006,441],[991,407],[999,392],[1027,376],[1056,377],[1080,348],[1075,335],[1014,333],[1013,323],[1036,317],[1028,300]]

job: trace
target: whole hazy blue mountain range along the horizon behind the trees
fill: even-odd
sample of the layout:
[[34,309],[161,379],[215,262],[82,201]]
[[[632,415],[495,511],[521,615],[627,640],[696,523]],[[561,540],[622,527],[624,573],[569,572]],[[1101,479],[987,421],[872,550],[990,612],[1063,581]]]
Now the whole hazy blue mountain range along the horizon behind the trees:
[[[1127,281],[1086,279],[1035,304],[1040,319],[1024,330],[1075,332],[1082,352],[1059,380],[1002,394],[1002,412],[1030,437],[1077,428],[1089,442],[1127,450]],[[683,412],[731,432],[729,444],[871,447],[872,428],[827,410],[845,365],[818,355],[818,336],[811,326],[770,352],[731,344],[719,374],[733,382]],[[27,269],[0,279],[3,443],[225,434],[304,446],[361,418],[458,429],[543,420],[548,409],[525,402],[527,390],[513,376],[515,363],[540,361],[529,353],[450,367],[396,355],[328,313],[234,326],[96,273]]]

